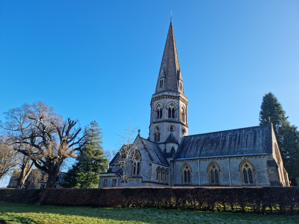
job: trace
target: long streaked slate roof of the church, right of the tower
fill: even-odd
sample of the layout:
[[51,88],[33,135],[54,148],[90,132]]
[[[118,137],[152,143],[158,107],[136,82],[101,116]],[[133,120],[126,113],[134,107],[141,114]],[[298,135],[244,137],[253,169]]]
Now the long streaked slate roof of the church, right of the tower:
[[270,130],[266,125],[184,136],[175,159],[269,154]]

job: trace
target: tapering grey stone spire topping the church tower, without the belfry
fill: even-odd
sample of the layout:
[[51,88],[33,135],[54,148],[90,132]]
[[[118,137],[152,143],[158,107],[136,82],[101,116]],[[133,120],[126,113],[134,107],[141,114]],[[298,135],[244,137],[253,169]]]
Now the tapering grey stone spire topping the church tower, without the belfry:
[[[181,92],[184,94],[182,84],[180,84],[179,80],[181,80],[181,83],[183,82],[178,52],[176,50],[176,40],[174,38],[172,20],[170,20],[155,93],[171,91]],[[162,81],[162,83],[160,81]]]

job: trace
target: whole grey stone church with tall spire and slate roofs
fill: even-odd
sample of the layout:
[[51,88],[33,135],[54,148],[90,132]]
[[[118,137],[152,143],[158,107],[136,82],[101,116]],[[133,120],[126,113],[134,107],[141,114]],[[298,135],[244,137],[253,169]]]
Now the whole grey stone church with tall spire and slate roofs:
[[[133,144],[120,148],[108,171],[100,174],[99,188],[289,186],[270,121],[188,135],[187,105],[170,20],[150,103],[149,137],[142,138],[138,131]],[[123,153],[126,150],[130,152]]]

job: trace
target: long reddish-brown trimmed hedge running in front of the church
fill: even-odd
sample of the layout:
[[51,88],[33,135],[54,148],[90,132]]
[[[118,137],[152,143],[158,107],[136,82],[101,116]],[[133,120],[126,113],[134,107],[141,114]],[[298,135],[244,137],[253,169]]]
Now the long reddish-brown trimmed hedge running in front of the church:
[[46,188],[40,202],[47,205],[64,206],[146,207],[299,214],[299,188]]

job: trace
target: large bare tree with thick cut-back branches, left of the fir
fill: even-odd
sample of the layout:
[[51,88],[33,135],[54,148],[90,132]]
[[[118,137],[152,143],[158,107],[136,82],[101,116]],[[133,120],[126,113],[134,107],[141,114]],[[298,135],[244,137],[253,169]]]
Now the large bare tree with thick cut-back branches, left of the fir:
[[[17,150],[32,159],[34,165],[48,174],[46,188],[54,188],[55,179],[64,159],[75,157],[86,142],[81,128],[76,128],[77,120],[63,122],[62,116],[54,112],[44,102],[32,105],[24,103],[21,107],[5,112],[5,123],[0,123],[10,134],[10,143],[18,145]],[[32,147],[19,147],[29,145]]]

